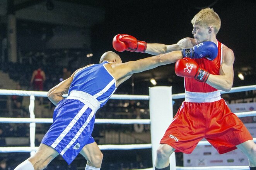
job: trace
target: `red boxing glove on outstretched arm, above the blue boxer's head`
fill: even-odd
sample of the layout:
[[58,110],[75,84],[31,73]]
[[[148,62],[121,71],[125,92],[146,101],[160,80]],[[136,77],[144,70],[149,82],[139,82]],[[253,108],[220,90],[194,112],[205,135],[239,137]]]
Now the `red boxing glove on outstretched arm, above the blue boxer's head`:
[[147,42],[139,41],[135,37],[128,34],[118,34],[113,38],[113,47],[119,52],[124,50],[131,52],[142,52],[145,53],[147,49]]

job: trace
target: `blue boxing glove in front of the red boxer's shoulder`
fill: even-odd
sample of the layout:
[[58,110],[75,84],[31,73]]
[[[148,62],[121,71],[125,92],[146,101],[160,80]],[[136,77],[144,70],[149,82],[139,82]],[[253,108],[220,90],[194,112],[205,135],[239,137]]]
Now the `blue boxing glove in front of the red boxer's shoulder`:
[[208,60],[214,60],[218,54],[218,47],[212,41],[201,42],[191,49],[182,49],[182,56],[192,59],[200,59],[206,57]]

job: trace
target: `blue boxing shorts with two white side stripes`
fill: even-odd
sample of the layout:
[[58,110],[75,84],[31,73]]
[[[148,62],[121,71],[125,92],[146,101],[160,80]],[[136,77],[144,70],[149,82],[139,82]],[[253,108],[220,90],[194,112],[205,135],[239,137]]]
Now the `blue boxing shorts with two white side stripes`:
[[94,142],[91,134],[99,105],[92,96],[88,99],[88,95],[81,98],[70,95],[61,100],[54,110],[53,124],[41,141],[58,151],[68,165],[85,145]]

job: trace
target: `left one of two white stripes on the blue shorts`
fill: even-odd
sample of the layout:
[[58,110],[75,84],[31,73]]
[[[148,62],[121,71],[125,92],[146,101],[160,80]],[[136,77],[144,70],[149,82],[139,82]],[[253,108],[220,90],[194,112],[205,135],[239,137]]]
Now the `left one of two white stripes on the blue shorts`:
[[60,141],[67,135],[67,133],[70,131],[70,129],[79,120],[79,118],[84,114],[84,112],[86,111],[87,108],[88,108],[88,106],[85,104],[84,107],[82,107],[82,109],[79,111],[79,113],[77,113],[75,118],[73,118],[73,120],[68,124],[68,126],[65,128],[65,130],[60,134],[60,136],[58,136],[58,138],[53,142],[53,144],[51,145],[52,148],[55,148],[60,143]]

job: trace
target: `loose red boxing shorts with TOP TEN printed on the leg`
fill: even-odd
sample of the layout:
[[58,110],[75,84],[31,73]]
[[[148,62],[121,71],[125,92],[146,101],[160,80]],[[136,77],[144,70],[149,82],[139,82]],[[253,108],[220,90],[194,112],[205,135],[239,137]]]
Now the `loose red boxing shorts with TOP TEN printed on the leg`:
[[212,99],[201,103],[193,101],[201,101],[202,98],[193,96],[194,93],[189,95],[193,99],[186,98],[182,103],[160,143],[172,146],[175,152],[189,154],[205,138],[218,153],[223,154],[235,150],[236,145],[252,140],[247,128],[230,111],[220,94],[213,94]]

